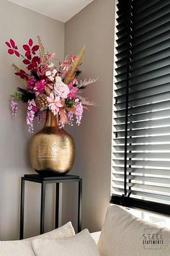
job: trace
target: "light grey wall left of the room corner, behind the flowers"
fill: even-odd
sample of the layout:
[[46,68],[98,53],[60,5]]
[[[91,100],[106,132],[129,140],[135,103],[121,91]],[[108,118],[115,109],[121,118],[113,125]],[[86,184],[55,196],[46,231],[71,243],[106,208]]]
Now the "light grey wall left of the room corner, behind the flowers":
[[[49,52],[55,52],[58,59],[64,56],[64,24],[9,1],[0,4],[0,240],[18,239],[19,236],[19,192],[20,177],[33,173],[27,159],[27,132],[24,106],[20,107],[16,120],[12,119],[9,95],[14,93],[22,81],[15,76],[12,63],[21,67],[22,60],[6,54],[4,42],[13,38],[22,47],[30,37],[36,40],[40,35]],[[53,187],[48,186],[46,228],[53,229]],[[51,210],[50,210],[51,209]],[[25,236],[39,232],[40,187],[26,186]]]

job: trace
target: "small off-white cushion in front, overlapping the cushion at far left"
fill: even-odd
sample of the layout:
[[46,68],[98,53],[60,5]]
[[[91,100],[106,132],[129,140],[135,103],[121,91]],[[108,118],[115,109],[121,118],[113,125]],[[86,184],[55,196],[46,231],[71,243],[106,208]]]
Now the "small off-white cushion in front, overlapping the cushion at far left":
[[87,229],[70,238],[55,241],[35,239],[32,244],[37,256],[100,256]]

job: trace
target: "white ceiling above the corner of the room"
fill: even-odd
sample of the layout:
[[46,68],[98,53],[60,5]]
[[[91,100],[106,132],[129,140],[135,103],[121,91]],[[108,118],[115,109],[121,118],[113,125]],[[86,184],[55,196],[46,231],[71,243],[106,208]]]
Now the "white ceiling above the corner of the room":
[[93,0],[8,0],[14,4],[66,22]]

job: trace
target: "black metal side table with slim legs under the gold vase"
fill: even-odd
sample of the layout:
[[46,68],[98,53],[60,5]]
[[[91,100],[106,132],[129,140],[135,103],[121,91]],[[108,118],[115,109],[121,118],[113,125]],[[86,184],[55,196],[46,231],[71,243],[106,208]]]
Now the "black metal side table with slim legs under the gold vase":
[[40,234],[44,233],[45,223],[45,185],[48,183],[56,184],[55,195],[55,229],[58,228],[58,213],[59,213],[59,184],[63,182],[78,182],[79,183],[79,202],[78,202],[78,232],[81,231],[81,200],[82,200],[82,179],[76,175],[65,176],[40,176],[39,174],[25,174],[22,177],[21,184],[21,208],[20,208],[20,233],[19,239],[24,237],[24,183],[37,182],[41,184],[41,210],[40,210]]

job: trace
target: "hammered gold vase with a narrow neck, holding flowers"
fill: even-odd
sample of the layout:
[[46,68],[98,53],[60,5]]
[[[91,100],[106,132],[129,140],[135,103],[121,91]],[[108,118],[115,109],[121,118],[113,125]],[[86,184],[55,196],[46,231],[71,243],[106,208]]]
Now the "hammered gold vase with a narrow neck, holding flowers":
[[30,141],[30,161],[38,174],[63,175],[75,159],[73,137],[58,127],[58,116],[47,111],[45,126]]

